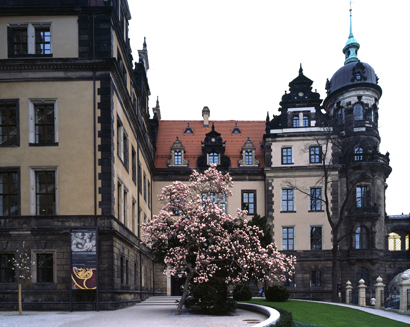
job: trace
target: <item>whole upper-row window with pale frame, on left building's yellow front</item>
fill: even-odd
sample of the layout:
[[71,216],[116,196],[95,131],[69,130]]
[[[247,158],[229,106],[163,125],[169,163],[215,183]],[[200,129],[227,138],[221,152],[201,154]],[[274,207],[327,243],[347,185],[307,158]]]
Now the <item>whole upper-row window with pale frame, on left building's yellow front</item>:
[[58,145],[58,106],[56,99],[30,99],[30,145]]

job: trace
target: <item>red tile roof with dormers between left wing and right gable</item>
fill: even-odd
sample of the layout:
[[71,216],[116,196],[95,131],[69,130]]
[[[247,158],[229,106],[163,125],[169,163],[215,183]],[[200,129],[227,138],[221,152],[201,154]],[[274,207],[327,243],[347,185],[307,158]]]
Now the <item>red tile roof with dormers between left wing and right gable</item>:
[[[193,134],[184,134],[188,123],[194,132]],[[238,168],[238,161],[242,159],[242,146],[248,136],[256,147],[256,160],[259,160],[260,167],[264,166],[264,154],[260,146],[265,133],[265,121],[262,120],[215,120],[209,121],[209,127],[206,128],[203,120],[160,120],[155,166],[157,168],[167,168],[167,161],[171,159],[171,146],[178,136],[185,147],[185,159],[189,160],[189,168],[196,168],[196,161],[202,155],[201,141],[203,142],[205,134],[212,130],[212,123],[214,123],[215,131],[221,133],[222,140],[226,141],[225,155],[231,159],[231,168]],[[237,123],[241,134],[232,134],[235,123]]]

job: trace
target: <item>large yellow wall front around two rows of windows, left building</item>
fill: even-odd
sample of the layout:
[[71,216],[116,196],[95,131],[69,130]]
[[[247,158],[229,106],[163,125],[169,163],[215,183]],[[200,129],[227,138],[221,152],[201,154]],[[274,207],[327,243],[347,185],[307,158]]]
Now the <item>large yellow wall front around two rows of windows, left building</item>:
[[[92,90],[88,81],[0,84],[19,99],[20,146],[1,148],[0,166],[20,166],[21,215],[30,215],[30,167],[58,167],[58,215],[94,214]],[[57,100],[58,146],[29,146],[29,99],[42,98]]]

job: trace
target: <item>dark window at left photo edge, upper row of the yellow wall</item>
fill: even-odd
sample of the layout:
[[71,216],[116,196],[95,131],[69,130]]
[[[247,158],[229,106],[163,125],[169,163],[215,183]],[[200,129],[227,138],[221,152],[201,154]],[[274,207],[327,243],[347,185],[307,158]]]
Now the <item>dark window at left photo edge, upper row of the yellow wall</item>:
[[0,101],[0,146],[19,145],[18,101]]

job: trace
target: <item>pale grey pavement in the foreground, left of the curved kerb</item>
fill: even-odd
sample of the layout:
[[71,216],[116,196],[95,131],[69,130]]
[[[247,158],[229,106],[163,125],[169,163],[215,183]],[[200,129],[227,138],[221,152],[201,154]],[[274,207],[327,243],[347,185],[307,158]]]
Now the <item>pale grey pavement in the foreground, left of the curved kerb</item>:
[[233,327],[252,326],[267,317],[260,313],[237,309],[234,316],[175,316],[175,305],[133,306],[116,311],[100,312],[0,312],[1,327]]

